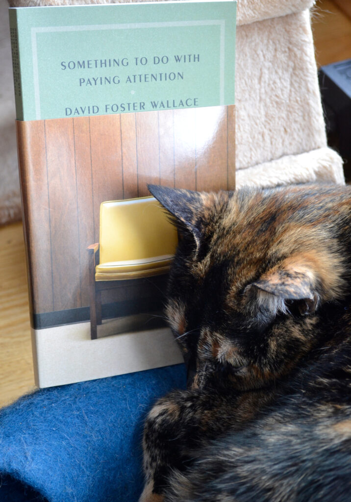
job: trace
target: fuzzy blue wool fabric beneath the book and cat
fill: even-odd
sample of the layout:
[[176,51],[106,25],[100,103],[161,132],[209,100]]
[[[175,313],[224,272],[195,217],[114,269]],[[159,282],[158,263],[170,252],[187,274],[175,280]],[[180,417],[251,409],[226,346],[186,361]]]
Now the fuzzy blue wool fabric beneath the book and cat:
[[183,364],[43,389],[0,410],[0,502],[137,502],[142,431]]

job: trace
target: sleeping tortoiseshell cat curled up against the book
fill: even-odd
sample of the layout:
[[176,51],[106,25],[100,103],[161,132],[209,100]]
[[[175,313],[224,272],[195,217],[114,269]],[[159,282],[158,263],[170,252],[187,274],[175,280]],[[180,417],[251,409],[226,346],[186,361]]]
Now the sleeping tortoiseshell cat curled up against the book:
[[140,501],[351,500],[351,187],[150,191],[188,389],[148,415]]

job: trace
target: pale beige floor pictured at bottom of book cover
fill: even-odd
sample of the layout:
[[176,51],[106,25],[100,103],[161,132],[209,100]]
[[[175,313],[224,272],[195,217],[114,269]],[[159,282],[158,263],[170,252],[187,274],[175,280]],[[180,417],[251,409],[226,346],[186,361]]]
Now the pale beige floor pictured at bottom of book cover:
[[91,340],[90,323],[83,322],[36,330],[32,342],[35,382],[41,388],[183,362],[170,329]]

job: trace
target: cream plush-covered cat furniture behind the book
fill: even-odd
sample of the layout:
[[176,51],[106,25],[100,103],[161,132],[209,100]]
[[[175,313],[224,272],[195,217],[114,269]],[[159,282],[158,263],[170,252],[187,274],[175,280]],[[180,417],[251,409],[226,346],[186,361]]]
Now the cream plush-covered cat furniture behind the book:
[[[9,1],[14,7],[114,3]],[[0,2],[5,27],[6,0]],[[314,0],[238,0],[237,187],[344,183],[342,161],[326,145],[310,26],[313,4]],[[6,223],[19,218],[20,197],[10,37],[2,32],[0,54],[7,66],[1,77],[5,113],[0,118],[0,223]]]

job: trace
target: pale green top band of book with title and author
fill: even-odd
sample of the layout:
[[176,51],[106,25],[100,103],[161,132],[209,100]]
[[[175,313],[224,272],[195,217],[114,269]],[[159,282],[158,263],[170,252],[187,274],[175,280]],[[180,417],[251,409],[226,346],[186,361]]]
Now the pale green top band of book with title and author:
[[19,120],[235,102],[233,0],[9,12]]

